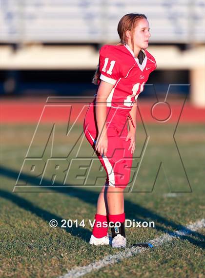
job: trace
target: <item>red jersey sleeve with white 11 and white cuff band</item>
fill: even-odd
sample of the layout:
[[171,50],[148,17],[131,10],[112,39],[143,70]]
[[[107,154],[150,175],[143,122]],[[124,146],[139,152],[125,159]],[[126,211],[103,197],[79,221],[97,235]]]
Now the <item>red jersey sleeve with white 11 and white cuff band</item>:
[[99,58],[100,79],[115,85],[121,78],[121,63],[110,45],[102,46]]

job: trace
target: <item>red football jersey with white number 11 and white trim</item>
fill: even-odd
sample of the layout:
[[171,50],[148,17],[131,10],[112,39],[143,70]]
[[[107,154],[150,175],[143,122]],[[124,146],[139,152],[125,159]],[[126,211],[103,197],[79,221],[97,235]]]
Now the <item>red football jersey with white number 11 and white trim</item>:
[[145,58],[140,64],[128,45],[105,44],[100,49],[100,79],[115,85],[106,100],[107,107],[132,109],[149,74],[156,69],[154,57],[142,51]]

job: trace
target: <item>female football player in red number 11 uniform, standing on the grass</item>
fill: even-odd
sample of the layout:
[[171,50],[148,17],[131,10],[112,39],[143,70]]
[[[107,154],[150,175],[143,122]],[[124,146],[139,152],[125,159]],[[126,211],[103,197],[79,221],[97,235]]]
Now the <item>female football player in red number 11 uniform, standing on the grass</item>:
[[125,247],[123,191],[129,183],[135,150],[136,102],[156,62],[146,50],[150,32],[145,15],[123,16],[118,34],[120,43],[106,44],[100,49],[99,67],[93,79],[98,85],[97,94],[88,107],[83,128],[107,173],[90,244],[109,244],[109,223],[112,247]]

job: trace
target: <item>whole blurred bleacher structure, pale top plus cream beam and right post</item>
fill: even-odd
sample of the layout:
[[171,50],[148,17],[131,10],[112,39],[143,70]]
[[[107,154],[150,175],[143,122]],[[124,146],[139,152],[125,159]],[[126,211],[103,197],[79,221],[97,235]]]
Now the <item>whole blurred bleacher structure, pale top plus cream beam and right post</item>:
[[[21,70],[94,72],[94,43],[118,43],[127,13],[147,16],[157,70],[189,71],[191,102],[205,107],[205,0],[0,0],[4,84],[18,84]],[[0,83],[0,92],[8,87]]]

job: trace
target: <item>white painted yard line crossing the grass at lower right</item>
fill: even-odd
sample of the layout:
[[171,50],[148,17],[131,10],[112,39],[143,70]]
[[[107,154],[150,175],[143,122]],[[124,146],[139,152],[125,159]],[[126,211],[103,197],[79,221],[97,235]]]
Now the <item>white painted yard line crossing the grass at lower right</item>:
[[[182,235],[189,235],[189,234],[191,234],[192,231],[194,232],[203,227],[205,227],[205,219],[198,220],[197,222],[184,227],[183,230],[176,231],[174,233],[169,233],[169,234],[166,233],[160,237],[150,240],[149,243],[151,243],[154,247],[158,247],[167,241],[173,240]],[[117,262],[123,260],[124,258],[132,257],[138,253],[141,253],[144,249],[145,248],[141,248],[141,247],[126,248],[124,251],[119,252],[115,255],[108,255],[108,256],[102,258],[101,260],[92,262],[88,265],[75,267],[75,268],[71,269],[68,273],[66,273],[65,275],[60,276],[59,278],[81,277],[92,271],[97,271],[107,265],[117,263]]]

